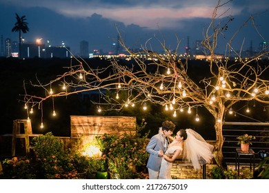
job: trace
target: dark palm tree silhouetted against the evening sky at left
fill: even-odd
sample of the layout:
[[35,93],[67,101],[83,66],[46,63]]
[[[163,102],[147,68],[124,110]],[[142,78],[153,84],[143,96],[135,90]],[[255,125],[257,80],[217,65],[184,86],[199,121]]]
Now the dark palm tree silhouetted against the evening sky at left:
[[12,32],[19,32],[19,58],[21,57],[21,32],[27,33],[29,31],[28,23],[26,22],[26,16],[19,17],[16,13],[17,22],[12,28]]

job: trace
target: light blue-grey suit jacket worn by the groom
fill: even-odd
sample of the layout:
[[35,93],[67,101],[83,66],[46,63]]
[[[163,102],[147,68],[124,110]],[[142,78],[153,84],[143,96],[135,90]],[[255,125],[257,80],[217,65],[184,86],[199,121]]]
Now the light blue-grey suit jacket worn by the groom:
[[168,141],[166,141],[166,139],[164,139],[161,134],[155,134],[155,136],[152,136],[146,148],[146,151],[150,153],[150,157],[148,158],[148,163],[146,167],[156,172],[159,172],[162,157],[158,155],[158,151],[163,150],[163,152],[166,152],[167,145]]

